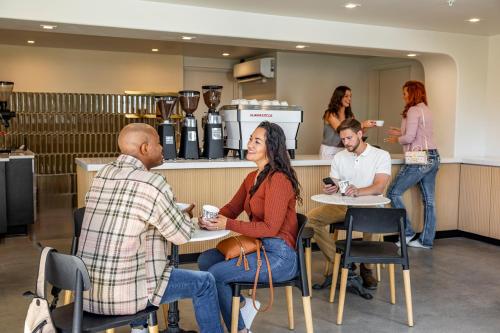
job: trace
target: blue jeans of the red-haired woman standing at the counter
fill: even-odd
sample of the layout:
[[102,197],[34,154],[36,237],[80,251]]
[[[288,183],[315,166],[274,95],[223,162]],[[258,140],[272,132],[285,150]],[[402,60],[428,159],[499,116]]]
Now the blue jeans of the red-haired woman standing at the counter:
[[[422,245],[432,247],[436,235],[435,185],[440,157],[436,149],[430,149],[427,153],[429,159],[426,165],[405,164],[401,167],[389,187],[387,196],[391,199],[392,207],[405,208],[402,199],[403,193],[413,185],[418,184],[424,201],[424,228],[419,241]],[[405,221],[405,235],[415,235],[408,216]]]

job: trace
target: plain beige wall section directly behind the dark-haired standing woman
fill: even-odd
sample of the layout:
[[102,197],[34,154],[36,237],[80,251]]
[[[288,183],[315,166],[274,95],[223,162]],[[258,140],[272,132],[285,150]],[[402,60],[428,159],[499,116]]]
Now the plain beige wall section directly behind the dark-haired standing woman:
[[323,113],[335,87],[352,89],[357,118],[368,113],[366,58],[278,52],[277,98],[304,108],[298,137],[299,154],[317,154],[323,134]]

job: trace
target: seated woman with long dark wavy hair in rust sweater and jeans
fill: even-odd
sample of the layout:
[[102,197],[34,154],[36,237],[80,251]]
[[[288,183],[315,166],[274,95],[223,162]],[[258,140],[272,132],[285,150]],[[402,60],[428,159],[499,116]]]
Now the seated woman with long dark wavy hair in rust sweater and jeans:
[[[200,226],[209,230],[228,229],[245,236],[258,237],[266,249],[273,281],[289,280],[297,275],[298,260],[295,252],[297,215],[295,204],[300,198],[300,185],[290,164],[285,134],[281,127],[262,122],[248,141],[247,160],[255,162],[257,170],[249,173],[233,199],[210,220],[200,219]],[[243,211],[250,221],[236,218]],[[213,274],[217,284],[222,317],[231,330],[230,282],[253,282],[256,273],[256,254],[248,256],[250,270],[236,266],[238,258],[225,261],[217,250],[203,252],[198,259],[202,271]],[[261,267],[259,281],[267,282],[267,265]],[[238,331],[249,332],[256,315],[250,299],[243,299],[238,320]]]

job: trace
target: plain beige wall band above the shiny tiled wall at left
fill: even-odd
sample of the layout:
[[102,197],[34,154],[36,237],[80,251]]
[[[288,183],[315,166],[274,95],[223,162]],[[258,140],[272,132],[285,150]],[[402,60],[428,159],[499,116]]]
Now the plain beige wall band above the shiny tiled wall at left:
[[182,56],[0,45],[0,78],[15,91],[178,91]]

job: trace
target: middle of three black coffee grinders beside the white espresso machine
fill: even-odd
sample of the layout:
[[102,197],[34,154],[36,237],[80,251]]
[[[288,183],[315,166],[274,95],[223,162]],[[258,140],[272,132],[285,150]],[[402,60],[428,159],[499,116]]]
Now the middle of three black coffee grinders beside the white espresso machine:
[[186,112],[186,118],[182,122],[181,146],[179,157],[186,159],[200,158],[200,146],[198,141],[198,126],[193,112],[198,107],[200,92],[194,90],[179,91],[179,101],[181,109]]

